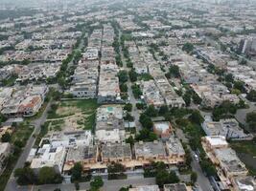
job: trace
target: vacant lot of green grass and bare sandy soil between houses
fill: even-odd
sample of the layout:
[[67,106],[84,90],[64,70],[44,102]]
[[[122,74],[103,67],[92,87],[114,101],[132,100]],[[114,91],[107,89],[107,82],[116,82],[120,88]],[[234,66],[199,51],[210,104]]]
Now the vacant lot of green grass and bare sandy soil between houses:
[[92,130],[95,122],[96,99],[60,101],[49,114],[50,131]]

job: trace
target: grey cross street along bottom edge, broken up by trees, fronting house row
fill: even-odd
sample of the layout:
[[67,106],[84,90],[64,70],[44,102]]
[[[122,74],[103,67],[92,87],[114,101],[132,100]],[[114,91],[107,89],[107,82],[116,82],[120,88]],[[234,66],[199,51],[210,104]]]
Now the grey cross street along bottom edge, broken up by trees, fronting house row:
[[[141,178],[134,177],[127,180],[105,180],[105,184],[103,186],[104,191],[118,191],[121,187],[127,187],[129,185],[137,186],[137,185],[151,185],[155,184],[154,178]],[[73,183],[62,183],[62,184],[48,184],[48,185],[40,185],[40,186],[22,186],[15,189],[15,191],[53,191],[56,188],[59,188],[61,191],[73,191],[75,190],[75,186]],[[90,188],[89,182],[80,183],[80,190],[87,190]],[[13,190],[14,191],[14,190]]]

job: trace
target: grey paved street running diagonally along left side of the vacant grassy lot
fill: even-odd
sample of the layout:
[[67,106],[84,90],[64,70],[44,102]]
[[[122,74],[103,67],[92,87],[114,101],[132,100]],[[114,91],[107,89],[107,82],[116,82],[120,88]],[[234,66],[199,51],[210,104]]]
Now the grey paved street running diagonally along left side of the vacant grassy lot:
[[31,125],[33,125],[35,127],[34,132],[32,133],[31,137],[29,138],[29,140],[27,141],[26,146],[23,149],[23,152],[21,154],[21,156],[19,157],[19,159],[17,160],[14,169],[12,170],[12,175],[10,177],[10,180],[8,181],[7,185],[6,185],[6,189],[5,191],[14,191],[17,190],[17,184],[16,181],[13,177],[13,172],[15,169],[17,168],[22,168],[24,166],[24,163],[26,162],[26,159],[29,156],[29,153],[35,143],[35,137],[34,135],[39,134],[40,132],[40,127],[41,125],[45,122],[46,118],[47,118],[47,112],[50,109],[50,105],[51,105],[52,101],[49,101],[49,103],[47,104],[43,114],[41,115],[41,117],[35,119],[34,121],[31,122]]

